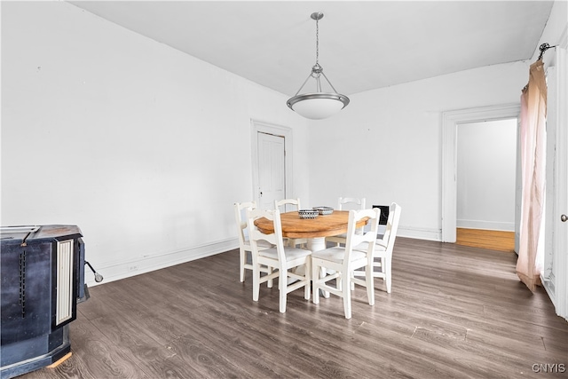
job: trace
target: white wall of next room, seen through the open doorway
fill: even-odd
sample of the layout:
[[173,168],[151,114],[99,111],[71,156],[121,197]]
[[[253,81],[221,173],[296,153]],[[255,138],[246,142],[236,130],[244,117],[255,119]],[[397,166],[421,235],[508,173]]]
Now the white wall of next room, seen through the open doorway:
[[457,226],[515,232],[517,119],[457,130]]

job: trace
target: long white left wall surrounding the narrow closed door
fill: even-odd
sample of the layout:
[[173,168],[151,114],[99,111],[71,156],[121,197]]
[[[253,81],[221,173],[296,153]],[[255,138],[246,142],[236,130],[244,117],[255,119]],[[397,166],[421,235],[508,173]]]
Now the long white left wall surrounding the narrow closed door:
[[309,197],[286,99],[74,5],[2,2],[2,225],[79,225],[106,281],[233,249],[251,119],[293,128]]

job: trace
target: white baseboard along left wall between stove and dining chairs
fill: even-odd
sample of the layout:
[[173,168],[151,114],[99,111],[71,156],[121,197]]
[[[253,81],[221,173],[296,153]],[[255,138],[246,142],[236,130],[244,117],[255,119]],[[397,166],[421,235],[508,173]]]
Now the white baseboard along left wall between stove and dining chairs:
[[154,256],[147,256],[141,259],[106,262],[103,264],[97,264],[96,267],[97,272],[103,275],[103,281],[97,283],[96,281],[94,281],[94,277],[91,274],[91,271],[85,270],[85,282],[87,286],[94,287],[99,284],[108,283],[110,281],[130,278],[131,276],[136,276],[141,273],[160,270],[172,265],[183,264],[195,259],[213,256],[215,254],[238,248],[239,240],[233,238],[193,248],[156,254]]

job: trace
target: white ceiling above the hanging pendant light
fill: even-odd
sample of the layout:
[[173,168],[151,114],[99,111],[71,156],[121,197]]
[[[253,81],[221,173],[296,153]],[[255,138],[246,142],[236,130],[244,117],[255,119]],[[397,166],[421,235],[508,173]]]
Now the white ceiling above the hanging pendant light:
[[[73,1],[292,96],[315,63],[345,95],[531,59],[548,1]],[[303,91],[304,92],[304,91]]]

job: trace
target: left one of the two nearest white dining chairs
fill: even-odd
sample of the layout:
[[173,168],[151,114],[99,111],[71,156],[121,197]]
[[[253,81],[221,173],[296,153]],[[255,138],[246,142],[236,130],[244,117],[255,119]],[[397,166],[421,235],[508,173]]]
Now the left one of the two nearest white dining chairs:
[[[274,233],[264,234],[255,225],[255,220],[264,217],[272,221]],[[260,285],[267,280],[278,278],[280,292],[280,312],[286,312],[288,293],[304,287],[304,298],[310,299],[312,251],[285,247],[282,240],[282,225],[278,209],[247,209],[248,239],[252,248],[252,299],[258,301]],[[270,249],[258,249],[259,242],[264,241],[273,245]],[[261,266],[272,270],[261,276]],[[302,267],[304,270],[295,270]],[[276,270],[276,271],[274,271]],[[301,273],[303,272],[303,273]],[[290,280],[288,280],[288,278]]]

